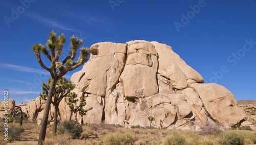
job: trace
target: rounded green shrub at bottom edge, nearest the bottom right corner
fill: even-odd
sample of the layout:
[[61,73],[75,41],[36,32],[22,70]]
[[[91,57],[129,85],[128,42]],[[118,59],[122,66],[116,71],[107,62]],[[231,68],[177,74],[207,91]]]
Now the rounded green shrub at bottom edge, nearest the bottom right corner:
[[226,131],[220,135],[219,142],[223,145],[242,145],[245,144],[245,138],[236,131]]

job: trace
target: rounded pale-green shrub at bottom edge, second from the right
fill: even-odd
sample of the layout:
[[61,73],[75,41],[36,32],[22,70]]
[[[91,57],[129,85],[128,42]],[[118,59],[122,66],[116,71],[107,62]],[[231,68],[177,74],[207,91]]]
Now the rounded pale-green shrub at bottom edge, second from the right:
[[177,131],[173,132],[172,136],[168,136],[164,142],[165,145],[186,145],[188,144],[185,137]]

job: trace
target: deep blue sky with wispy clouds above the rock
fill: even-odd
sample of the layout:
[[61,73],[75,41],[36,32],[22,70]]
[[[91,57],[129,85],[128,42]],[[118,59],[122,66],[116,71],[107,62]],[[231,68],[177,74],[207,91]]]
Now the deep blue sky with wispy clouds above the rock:
[[[54,30],[67,40],[72,35],[83,39],[86,47],[135,39],[166,43],[205,82],[225,86],[237,100],[256,100],[255,6],[253,0],[3,0],[0,90],[8,89],[16,104],[38,96],[41,82],[50,76],[37,63],[31,45],[46,44]],[[69,41],[64,51],[68,47]]]

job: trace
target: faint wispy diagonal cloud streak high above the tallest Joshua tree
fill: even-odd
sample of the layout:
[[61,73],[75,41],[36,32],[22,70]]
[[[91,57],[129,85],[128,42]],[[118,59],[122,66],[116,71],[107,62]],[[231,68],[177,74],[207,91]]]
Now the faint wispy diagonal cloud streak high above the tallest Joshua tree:
[[35,20],[39,23],[44,23],[45,25],[48,25],[48,26],[51,26],[51,27],[57,27],[59,29],[68,30],[68,31],[73,30],[69,27],[61,25],[58,21],[56,21],[54,19],[51,19],[51,18],[42,17],[38,14],[31,13],[31,12],[27,12],[27,13],[25,13],[25,15],[27,15],[28,17],[32,18],[33,20]]

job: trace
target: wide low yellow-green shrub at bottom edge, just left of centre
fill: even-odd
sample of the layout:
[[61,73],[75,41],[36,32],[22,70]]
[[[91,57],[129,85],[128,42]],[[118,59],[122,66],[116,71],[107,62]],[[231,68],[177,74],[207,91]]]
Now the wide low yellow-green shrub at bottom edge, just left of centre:
[[136,141],[136,138],[134,138],[129,133],[121,134],[119,132],[110,133],[105,136],[103,140],[103,144],[106,145],[128,145],[133,144]]

